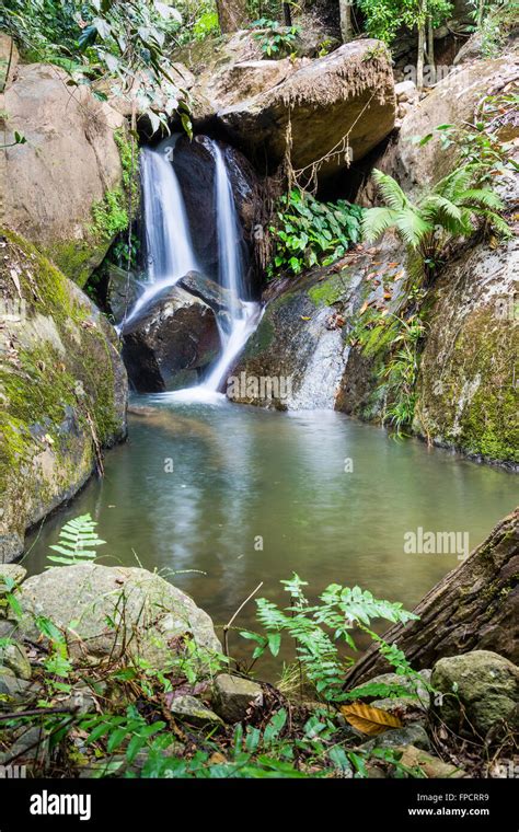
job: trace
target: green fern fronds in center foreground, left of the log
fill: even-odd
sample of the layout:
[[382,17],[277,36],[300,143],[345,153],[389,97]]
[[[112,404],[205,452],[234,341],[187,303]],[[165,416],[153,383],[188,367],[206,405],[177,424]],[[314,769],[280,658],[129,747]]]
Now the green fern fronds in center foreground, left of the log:
[[319,597],[320,603],[310,605],[303,587],[308,583],[293,575],[282,580],[290,594],[290,604],[282,610],[265,598],[256,600],[257,620],[265,635],[244,631],[241,635],[254,642],[253,660],[266,650],[273,656],[279,652],[281,636],[286,633],[295,642],[296,656],[304,677],[314,686],[318,695],[326,701],[342,702],[347,698],[343,691],[344,675],[351,659],[339,654],[343,644],[356,650],[351,635],[354,627],[374,635],[370,631],[373,620],[383,619],[392,623],[405,623],[416,619],[400,603],[381,601],[362,591],[331,583]]

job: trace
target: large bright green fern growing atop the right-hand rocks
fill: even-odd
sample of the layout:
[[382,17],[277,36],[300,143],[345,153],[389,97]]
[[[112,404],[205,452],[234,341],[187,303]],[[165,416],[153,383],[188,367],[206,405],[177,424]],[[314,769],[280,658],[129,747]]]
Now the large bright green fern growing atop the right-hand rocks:
[[503,200],[491,187],[480,186],[481,173],[477,163],[461,165],[413,203],[392,176],[374,170],[373,178],[387,207],[365,212],[365,240],[372,242],[389,230],[395,231],[412,262],[430,282],[446,245],[470,236],[482,221],[501,235],[511,233],[499,213]]

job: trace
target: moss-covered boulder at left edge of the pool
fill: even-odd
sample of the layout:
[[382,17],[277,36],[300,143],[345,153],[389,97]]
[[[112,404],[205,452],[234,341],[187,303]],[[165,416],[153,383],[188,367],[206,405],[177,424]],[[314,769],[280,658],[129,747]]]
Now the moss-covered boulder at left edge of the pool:
[[0,232],[0,562],[126,436],[115,331],[33,245]]

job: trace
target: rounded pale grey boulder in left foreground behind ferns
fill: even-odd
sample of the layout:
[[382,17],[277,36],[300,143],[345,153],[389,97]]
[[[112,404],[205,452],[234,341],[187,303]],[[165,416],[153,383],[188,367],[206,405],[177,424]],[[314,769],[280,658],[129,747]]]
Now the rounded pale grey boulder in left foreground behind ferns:
[[176,587],[147,569],[96,564],[53,567],[34,575],[18,594],[20,628],[37,638],[37,616],[68,631],[73,658],[118,657],[125,650],[162,668],[192,639],[203,659],[220,652],[212,622]]

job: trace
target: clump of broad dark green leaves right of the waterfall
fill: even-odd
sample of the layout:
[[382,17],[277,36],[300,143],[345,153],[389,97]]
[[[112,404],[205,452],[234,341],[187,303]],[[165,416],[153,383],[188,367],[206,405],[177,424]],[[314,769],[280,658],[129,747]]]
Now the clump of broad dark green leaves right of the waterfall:
[[274,252],[268,276],[278,271],[299,275],[303,268],[327,266],[344,256],[360,239],[362,210],[345,199],[320,203],[301,190],[280,197],[276,221],[269,228]]

